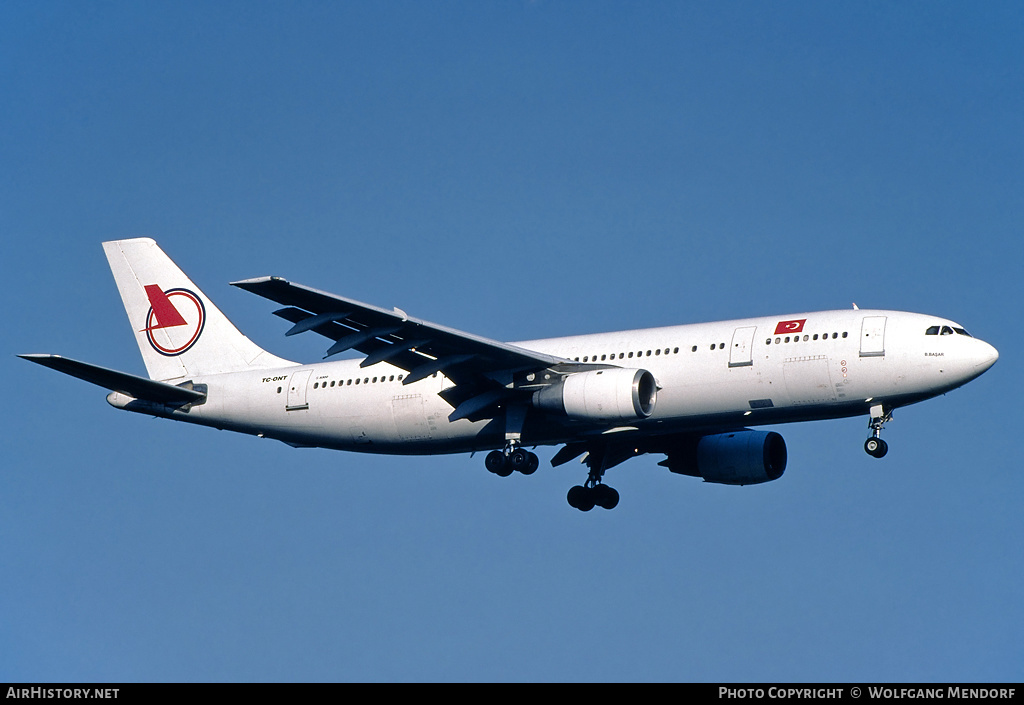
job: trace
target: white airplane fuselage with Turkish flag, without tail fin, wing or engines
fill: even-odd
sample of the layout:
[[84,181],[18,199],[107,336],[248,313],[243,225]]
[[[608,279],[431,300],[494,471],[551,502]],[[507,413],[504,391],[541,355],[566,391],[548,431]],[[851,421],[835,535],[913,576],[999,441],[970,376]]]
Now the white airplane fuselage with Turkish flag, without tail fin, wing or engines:
[[[531,410],[522,443],[566,443],[612,430],[714,431],[905,406],[953,389],[995,362],[995,348],[955,331],[963,329],[932,316],[852,309],[514,343],[581,363],[648,370],[659,386],[653,413],[625,423]],[[360,368],[360,362],[194,377],[194,384],[207,385],[208,398],[183,410],[117,392],[109,400],[296,446],[413,454],[504,445],[501,419],[449,421],[453,408],[438,392],[452,382],[442,374],[403,384],[404,370],[386,363]]]

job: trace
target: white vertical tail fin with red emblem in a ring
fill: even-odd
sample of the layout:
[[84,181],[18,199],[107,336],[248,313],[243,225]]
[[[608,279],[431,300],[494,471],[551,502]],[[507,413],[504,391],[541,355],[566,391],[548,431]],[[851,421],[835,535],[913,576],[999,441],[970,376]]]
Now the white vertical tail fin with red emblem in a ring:
[[103,251],[151,379],[295,365],[242,335],[150,238]]

